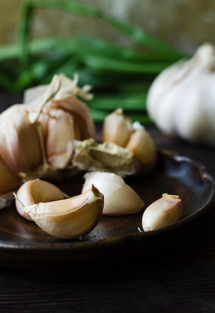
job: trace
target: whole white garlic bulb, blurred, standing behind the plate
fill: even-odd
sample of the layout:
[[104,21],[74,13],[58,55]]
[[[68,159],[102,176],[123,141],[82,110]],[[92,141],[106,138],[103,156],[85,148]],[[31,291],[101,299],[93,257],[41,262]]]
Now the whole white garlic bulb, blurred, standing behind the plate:
[[152,82],[147,111],[167,135],[215,145],[215,47],[205,43],[189,60],[163,70]]

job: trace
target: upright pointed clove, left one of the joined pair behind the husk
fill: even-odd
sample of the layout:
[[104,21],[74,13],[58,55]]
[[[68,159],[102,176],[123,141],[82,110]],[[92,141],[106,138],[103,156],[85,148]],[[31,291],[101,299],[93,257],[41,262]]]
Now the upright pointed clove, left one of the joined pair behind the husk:
[[131,133],[131,120],[123,114],[121,108],[117,108],[105,117],[102,127],[103,142],[114,142],[125,146]]

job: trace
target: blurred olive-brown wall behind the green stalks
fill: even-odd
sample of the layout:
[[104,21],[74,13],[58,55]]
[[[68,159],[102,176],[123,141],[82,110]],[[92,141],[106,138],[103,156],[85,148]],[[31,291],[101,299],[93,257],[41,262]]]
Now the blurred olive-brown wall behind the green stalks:
[[[20,11],[27,0],[0,1],[0,44],[14,42]],[[78,0],[143,27],[174,47],[192,53],[204,41],[215,43],[215,0]],[[116,30],[99,20],[56,9],[36,9],[33,37],[88,33],[123,41]]]

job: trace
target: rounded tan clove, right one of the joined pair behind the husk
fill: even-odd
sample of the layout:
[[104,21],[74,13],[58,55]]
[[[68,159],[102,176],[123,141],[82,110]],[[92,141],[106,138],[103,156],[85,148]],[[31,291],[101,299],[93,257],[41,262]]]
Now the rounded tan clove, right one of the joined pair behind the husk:
[[157,148],[153,137],[143,126],[138,124],[135,127],[125,148],[133,152],[135,159],[140,163],[141,172],[146,173],[156,163]]

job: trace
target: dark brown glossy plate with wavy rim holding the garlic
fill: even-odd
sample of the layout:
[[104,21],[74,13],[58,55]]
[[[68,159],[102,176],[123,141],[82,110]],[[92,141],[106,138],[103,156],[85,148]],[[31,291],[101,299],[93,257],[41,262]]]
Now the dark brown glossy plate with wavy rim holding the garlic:
[[[12,267],[87,264],[102,258],[148,253],[186,240],[203,215],[215,204],[213,178],[203,165],[170,151],[160,151],[156,168],[145,176],[128,177],[145,207],[167,192],[178,194],[184,206],[182,219],[168,227],[140,232],[142,212],[126,216],[102,216],[88,235],[77,240],[56,239],[35,223],[25,220],[14,204],[0,210],[0,265]],[[82,174],[58,183],[70,195],[80,193]]]

